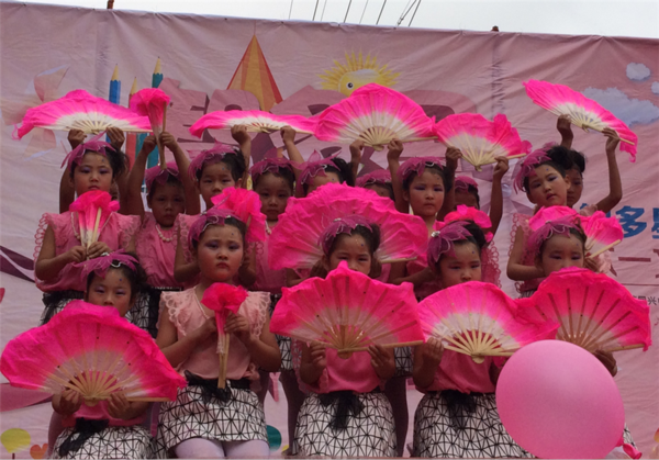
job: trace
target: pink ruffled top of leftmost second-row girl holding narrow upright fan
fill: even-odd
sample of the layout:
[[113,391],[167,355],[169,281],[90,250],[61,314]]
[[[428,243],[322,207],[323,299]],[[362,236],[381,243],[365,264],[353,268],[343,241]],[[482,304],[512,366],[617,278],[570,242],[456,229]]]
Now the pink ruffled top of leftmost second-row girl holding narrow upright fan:
[[[62,214],[46,213],[42,216],[36,229],[34,248],[34,262],[41,253],[44,236],[48,226],[55,234],[55,255],[59,256],[69,249],[80,246],[80,226],[78,220],[70,211]],[[131,240],[139,228],[139,217],[136,215],[110,214],[101,228],[99,242],[105,243],[111,250],[126,250]],[[36,287],[44,292],[76,290],[85,291],[86,280],[82,278],[82,268],[68,263],[53,281],[40,280],[35,277]]]

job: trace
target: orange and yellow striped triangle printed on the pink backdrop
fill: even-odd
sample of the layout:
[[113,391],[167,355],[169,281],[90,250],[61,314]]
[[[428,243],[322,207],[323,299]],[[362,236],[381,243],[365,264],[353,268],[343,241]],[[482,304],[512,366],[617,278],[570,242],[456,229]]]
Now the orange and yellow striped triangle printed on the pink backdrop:
[[260,109],[266,112],[282,101],[256,35],[252,37],[252,42],[249,42],[226,89],[249,91],[258,100]]

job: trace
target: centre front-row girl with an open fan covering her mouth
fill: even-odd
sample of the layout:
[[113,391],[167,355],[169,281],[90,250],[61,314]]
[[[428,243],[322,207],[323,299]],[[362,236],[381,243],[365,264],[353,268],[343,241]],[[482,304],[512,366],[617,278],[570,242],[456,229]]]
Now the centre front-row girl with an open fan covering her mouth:
[[[362,217],[333,222],[322,239],[326,271],[340,262],[371,276],[380,244],[379,227]],[[395,371],[393,352],[379,346],[348,359],[336,350],[294,341],[301,352],[295,371],[311,391],[298,416],[295,449],[302,457],[395,457],[393,414],[381,393]]]

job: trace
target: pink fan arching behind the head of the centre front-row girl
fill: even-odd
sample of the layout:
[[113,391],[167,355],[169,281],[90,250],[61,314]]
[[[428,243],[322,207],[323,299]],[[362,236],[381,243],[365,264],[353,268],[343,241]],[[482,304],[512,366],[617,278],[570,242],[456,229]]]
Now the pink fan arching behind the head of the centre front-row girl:
[[381,263],[411,260],[427,243],[423,220],[399,213],[393,202],[367,189],[327,183],[306,198],[290,198],[268,243],[270,268],[311,269],[323,257],[321,236],[336,220],[358,215],[380,227]]

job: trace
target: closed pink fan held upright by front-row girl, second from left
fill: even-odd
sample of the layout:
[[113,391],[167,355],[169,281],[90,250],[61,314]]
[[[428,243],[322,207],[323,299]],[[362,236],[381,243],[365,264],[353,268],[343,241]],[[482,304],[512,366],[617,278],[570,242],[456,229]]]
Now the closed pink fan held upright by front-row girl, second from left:
[[214,283],[203,292],[201,303],[215,312],[217,324],[217,354],[220,355],[220,378],[217,388],[226,384],[226,363],[231,336],[224,333],[224,325],[230,313],[237,313],[242,303],[247,299],[247,291],[242,287],[226,283]]

